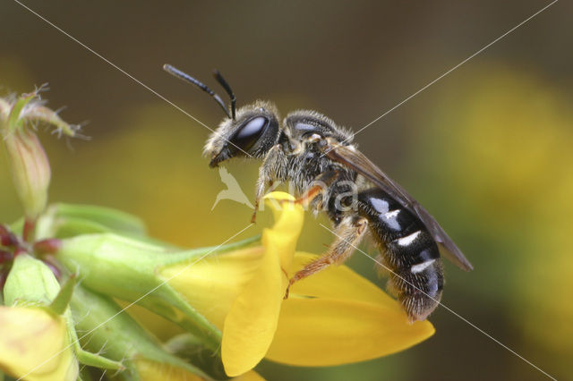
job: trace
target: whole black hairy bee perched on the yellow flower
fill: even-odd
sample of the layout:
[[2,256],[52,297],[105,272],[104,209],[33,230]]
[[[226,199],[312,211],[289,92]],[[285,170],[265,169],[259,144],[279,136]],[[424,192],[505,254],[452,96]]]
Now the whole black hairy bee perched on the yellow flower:
[[328,214],[337,238],[325,254],[293,275],[289,287],[343,263],[370,233],[381,253],[377,262],[389,270],[389,291],[414,322],[427,318],[440,303],[444,284],[440,254],[463,270],[473,269],[430,213],[356,148],[350,131],[327,116],[298,110],[281,123],[277,107],[261,100],[236,109],[233,90],[215,71],[215,79],[230,97],[229,112],[199,80],[168,64],[164,70],[207,92],[227,114],[205,144],[211,167],[234,157],[262,161],[255,214],[265,190],[275,182],[290,182],[297,202]]

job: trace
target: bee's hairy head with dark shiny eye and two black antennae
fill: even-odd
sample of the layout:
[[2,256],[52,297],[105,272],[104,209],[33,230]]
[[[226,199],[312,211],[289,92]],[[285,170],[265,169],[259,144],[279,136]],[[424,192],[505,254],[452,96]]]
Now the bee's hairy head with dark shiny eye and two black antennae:
[[164,65],[163,69],[175,77],[192,83],[209,94],[225,111],[227,117],[213,131],[205,143],[203,154],[210,157],[210,166],[231,157],[261,158],[272,148],[278,140],[278,111],[269,102],[256,101],[252,105],[244,106],[235,111],[236,97],[233,90],[220,72],[213,72],[215,79],[225,89],[231,99],[231,112],[221,98],[211,89],[195,80],[190,75],[181,72],[171,65]]

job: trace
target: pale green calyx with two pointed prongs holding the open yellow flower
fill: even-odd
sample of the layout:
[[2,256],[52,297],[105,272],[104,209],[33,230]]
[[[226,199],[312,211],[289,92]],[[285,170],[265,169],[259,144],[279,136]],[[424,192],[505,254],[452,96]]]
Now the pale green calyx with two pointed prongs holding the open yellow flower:
[[253,240],[218,248],[167,250],[162,246],[126,238],[114,233],[82,234],[62,240],[56,258],[82,284],[93,291],[133,301],[158,315],[183,326],[201,337],[212,351],[218,351],[221,333],[197,312],[184,296],[158,274],[158,269],[176,264],[191,264],[201,257],[246,245]]

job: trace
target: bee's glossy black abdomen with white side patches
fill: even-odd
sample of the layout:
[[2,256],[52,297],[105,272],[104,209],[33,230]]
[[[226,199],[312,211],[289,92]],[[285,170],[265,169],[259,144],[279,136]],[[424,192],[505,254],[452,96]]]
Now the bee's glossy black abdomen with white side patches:
[[440,302],[444,283],[436,242],[417,216],[383,190],[364,190],[358,201],[381,249],[382,267],[389,270],[389,291],[411,321],[427,318]]

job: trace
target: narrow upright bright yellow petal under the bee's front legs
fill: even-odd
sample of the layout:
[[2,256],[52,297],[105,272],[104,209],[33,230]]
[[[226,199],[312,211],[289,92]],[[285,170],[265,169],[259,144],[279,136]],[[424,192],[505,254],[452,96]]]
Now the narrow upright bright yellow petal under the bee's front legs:
[[292,196],[274,192],[265,199],[275,213],[276,224],[263,231],[265,252],[260,267],[236,297],[223,328],[221,357],[231,377],[252,369],[269,349],[288,282],[286,272],[304,221],[300,205],[274,202],[293,200]]

